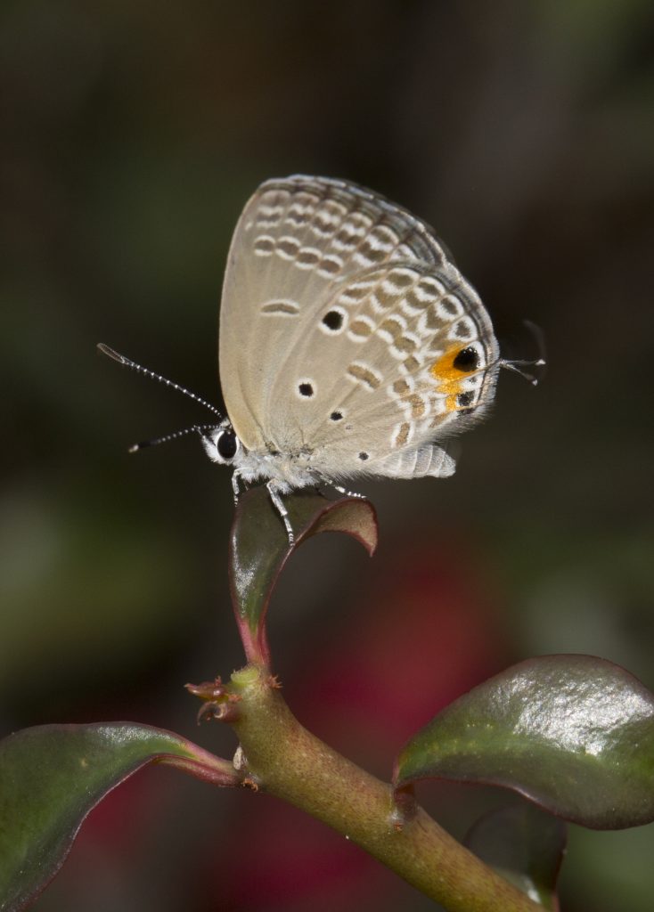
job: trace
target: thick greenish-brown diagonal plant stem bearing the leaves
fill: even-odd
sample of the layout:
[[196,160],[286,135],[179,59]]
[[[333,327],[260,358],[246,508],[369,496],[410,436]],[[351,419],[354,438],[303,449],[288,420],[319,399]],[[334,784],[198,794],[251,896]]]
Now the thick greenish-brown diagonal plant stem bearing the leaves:
[[306,731],[264,668],[246,666],[232,682],[242,698],[233,726],[246,771],[267,793],[333,827],[449,912],[542,912],[420,807],[394,825],[389,783]]

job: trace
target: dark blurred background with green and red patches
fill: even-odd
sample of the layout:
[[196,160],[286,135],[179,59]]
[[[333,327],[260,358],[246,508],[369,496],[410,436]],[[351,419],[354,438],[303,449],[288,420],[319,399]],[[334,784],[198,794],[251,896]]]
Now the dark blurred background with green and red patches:
[[[234,223],[260,181],[358,181],[433,224],[507,357],[447,481],[361,486],[372,560],[320,536],[271,608],[299,718],[371,772],[514,661],[585,652],[654,687],[654,7],[649,0],[2,6],[0,723],[129,719],[231,756],[187,680],[242,664],[220,403]],[[244,344],[246,349],[246,343]],[[390,685],[390,686],[389,686]],[[461,836],[505,793],[425,784]],[[566,912],[651,909],[654,827],[571,827]],[[271,798],[141,772],[94,812],[39,912],[433,908]]]

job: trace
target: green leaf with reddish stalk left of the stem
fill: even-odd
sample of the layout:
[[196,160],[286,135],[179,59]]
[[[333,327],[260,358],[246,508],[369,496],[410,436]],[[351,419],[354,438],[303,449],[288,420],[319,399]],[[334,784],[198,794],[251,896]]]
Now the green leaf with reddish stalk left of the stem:
[[57,874],[88,812],[157,761],[217,785],[240,782],[231,763],[148,725],[43,725],[0,741],[0,910],[25,908]]

